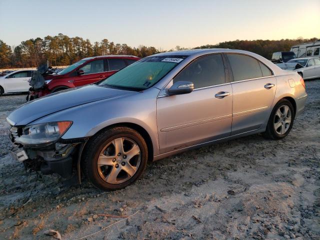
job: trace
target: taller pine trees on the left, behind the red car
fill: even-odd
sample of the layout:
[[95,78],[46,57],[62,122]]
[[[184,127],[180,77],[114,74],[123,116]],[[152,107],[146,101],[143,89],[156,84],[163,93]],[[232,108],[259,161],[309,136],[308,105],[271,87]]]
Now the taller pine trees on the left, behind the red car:
[[36,67],[46,60],[51,66],[69,65],[89,56],[125,54],[145,57],[157,52],[158,49],[153,46],[130,47],[108,39],[92,44],[89,39],[59,33],[56,36],[31,38],[15,47],[0,40],[0,68]]

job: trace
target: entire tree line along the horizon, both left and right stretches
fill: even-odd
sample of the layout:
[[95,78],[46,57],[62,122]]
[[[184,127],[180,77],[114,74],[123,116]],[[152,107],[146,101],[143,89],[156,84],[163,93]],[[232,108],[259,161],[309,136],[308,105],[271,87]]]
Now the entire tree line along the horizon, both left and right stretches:
[[[271,58],[272,52],[289,51],[292,45],[317,40],[316,37],[303,39],[281,40],[234,40],[224,41],[214,45],[202,45],[194,48],[231,48],[255,52],[267,59]],[[176,46],[175,50],[187,49]],[[173,49],[170,49],[173,50]],[[56,36],[37,37],[22,41],[15,47],[10,47],[0,40],[0,68],[10,67],[36,67],[48,60],[49,65],[69,65],[84,57],[125,54],[145,57],[161,52],[153,46],[140,45],[130,47],[127,44],[114,43],[108,39],[95,41],[82,37],[69,37],[59,33]]]

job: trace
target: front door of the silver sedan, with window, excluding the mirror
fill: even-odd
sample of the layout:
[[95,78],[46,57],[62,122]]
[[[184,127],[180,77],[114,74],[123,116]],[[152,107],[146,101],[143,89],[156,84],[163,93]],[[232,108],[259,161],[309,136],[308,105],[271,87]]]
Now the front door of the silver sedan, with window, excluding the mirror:
[[156,101],[160,153],[227,137],[231,132],[232,88],[222,55],[193,60],[169,86],[182,80],[193,82],[194,90],[160,94]]

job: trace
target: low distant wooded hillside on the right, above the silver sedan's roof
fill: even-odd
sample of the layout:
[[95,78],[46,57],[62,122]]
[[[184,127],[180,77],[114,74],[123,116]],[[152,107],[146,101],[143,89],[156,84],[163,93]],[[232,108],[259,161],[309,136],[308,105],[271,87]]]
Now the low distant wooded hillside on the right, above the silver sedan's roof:
[[215,45],[203,45],[194,48],[231,48],[255,52],[267,59],[271,59],[272,52],[275,51],[289,51],[291,46],[315,41],[318,37],[310,39],[281,39],[281,40],[235,40],[219,42]]

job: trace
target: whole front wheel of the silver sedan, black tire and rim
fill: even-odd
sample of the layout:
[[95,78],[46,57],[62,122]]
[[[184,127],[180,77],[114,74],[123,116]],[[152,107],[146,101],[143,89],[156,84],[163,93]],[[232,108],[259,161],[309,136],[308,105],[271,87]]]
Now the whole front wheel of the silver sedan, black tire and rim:
[[134,182],[143,173],[148,149],[134,129],[117,126],[93,136],[83,153],[83,171],[103,190],[116,190]]

